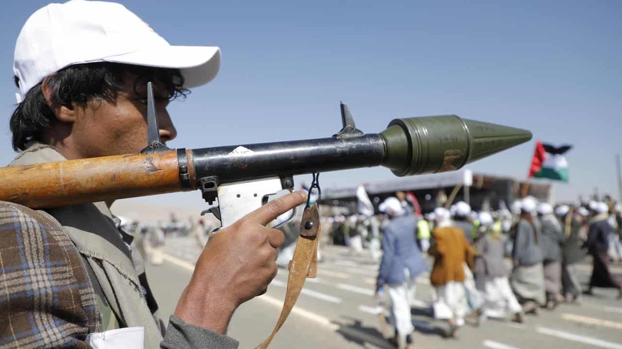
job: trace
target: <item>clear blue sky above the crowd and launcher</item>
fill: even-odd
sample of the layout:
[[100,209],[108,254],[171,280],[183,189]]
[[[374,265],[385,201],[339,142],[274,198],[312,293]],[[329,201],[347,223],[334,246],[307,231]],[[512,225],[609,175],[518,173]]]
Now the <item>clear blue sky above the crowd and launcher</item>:
[[[46,3],[15,1],[0,14],[3,164],[14,156],[15,40]],[[620,1],[123,3],[172,44],[222,49],[218,77],[170,106],[179,130],[172,147],[328,137],[340,129],[345,101],[370,133],[394,118],[436,114],[532,130],[534,141],[470,165],[476,172],[524,178],[535,140],[570,143],[570,183],[555,185],[555,196],[573,200],[595,186],[617,196]],[[388,178],[383,168],[350,170],[323,174],[321,183]],[[200,202],[198,193],[169,197]]]

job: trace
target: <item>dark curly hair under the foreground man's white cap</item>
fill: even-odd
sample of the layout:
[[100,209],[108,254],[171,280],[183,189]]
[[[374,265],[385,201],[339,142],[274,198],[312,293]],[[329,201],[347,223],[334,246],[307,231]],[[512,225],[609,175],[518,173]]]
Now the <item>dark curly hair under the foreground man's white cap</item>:
[[[134,91],[144,94],[147,81],[154,81],[164,87],[164,96],[159,99],[172,101],[185,97],[190,91],[183,88],[184,79],[179,69],[152,68],[147,66],[124,65],[119,63],[83,63],[71,65],[49,76],[46,86],[50,90],[52,107],[86,106],[93,99],[116,101],[124,86],[126,77],[134,78]],[[19,84],[17,76],[15,84]],[[139,93],[139,91],[143,91]],[[45,101],[41,83],[28,91],[24,101],[17,104],[11,116],[10,127],[13,133],[12,145],[17,151],[24,150],[32,140],[41,140],[45,130],[56,120],[52,109]]]

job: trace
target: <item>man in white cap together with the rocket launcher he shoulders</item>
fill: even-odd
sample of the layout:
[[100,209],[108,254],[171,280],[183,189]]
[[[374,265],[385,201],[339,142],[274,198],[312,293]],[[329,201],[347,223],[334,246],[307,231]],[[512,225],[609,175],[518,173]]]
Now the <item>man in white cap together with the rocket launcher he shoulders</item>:
[[[343,129],[333,137],[166,148],[177,136],[167,104],[215,78],[220,58],[218,47],[170,45],[111,2],[50,4],[27,20],[16,43],[10,124],[21,153],[0,168],[0,261],[12,285],[0,286],[2,345],[235,348],[226,336],[233,312],[276,276],[284,237],[266,225],[307,200],[293,192],[266,202],[294,188],[294,174],[457,170],[531,138],[457,116],[396,119],[363,134],[342,104]],[[165,330],[139,253],[109,206],[193,189],[208,202],[218,197],[212,212],[223,227]]]

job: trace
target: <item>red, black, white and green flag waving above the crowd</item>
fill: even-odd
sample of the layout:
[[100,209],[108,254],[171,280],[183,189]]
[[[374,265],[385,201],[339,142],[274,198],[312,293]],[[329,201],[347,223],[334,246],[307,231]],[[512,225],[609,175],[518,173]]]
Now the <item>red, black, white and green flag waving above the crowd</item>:
[[531,168],[529,168],[529,178],[549,178],[567,182],[569,178],[568,161],[566,161],[564,153],[570,148],[572,145],[563,145],[557,148],[538,141],[536,152],[534,152],[534,157],[531,160]]

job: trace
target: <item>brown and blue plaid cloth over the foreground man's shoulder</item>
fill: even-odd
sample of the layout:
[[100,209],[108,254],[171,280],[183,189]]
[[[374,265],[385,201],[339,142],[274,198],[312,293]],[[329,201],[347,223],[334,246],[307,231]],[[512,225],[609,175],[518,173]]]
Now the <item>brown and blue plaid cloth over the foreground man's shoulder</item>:
[[89,348],[101,313],[83,258],[49,214],[0,202],[0,347]]

